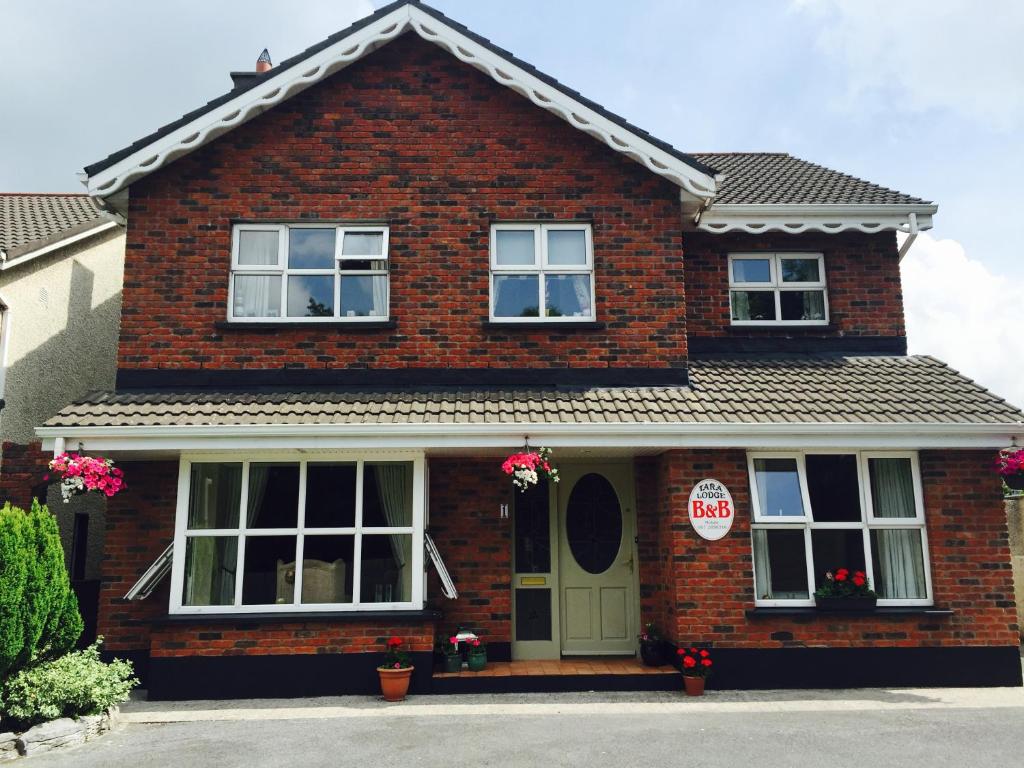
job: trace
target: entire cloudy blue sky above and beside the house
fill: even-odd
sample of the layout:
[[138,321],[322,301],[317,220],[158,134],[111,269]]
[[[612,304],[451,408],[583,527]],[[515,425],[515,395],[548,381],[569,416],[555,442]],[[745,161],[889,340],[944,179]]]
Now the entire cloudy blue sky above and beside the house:
[[[0,0],[0,190],[80,191],[263,47],[281,61],[383,4]],[[1024,3],[431,4],[681,150],[788,152],[937,202],[903,262],[910,351],[1024,404]]]

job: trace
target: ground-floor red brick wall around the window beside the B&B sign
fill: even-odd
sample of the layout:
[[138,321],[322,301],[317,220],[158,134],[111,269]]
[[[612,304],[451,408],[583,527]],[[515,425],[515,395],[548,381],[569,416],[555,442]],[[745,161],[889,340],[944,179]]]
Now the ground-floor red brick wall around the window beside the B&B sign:
[[[935,602],[952,616],[748,618],[754,575],[743,452],[676,451],[659,460],[662,504],[668,500],[672,515],[674,639],[732,648],[1016,645],[1009,535],[989,452],[921,455]],[[686,515],[690,489],[709,476],[728,485],[737,508],[719,542],[697,537]]]

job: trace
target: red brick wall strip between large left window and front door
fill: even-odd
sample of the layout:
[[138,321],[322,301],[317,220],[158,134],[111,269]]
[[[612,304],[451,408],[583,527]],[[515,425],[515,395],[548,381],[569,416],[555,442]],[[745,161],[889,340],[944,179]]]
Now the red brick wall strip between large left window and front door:
[[438,631],[466,627],[487,642],[512,639],[512,482],[497,458],[430,460],[430,534],[459,589],[441,595],[431,568],[431,603],[443,612]]

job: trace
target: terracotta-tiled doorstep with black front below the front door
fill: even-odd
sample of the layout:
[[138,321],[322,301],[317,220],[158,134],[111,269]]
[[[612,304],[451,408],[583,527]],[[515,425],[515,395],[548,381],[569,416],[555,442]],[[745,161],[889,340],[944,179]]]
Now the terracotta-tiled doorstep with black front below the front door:
[[487,662],[481,672],[434,671],[431,693],[554,693],[657,691],[682,687],[669,665],[645,667],[636,658],[580,657],[543,662]]

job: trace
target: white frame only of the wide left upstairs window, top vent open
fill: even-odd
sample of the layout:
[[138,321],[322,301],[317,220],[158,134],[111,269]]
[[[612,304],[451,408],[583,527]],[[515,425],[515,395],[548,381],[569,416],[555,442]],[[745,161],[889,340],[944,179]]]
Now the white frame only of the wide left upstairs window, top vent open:
[[[334,268],[333,269],[295,269],[288,266],[288,247],[290,229],[334,229]],[[242,231],[276,231],[278,263],[276,264],[240,264],[239,249]],[[381,254],[366,256],[342,255],[345,234],[348,232],[383,232]],[[390,228],[384,224],[338,224],[331,221],[310,221],[296,224],[234,224],[231,227],[231,273],[227,283],[227,322],[228,323],[386,323],[391,317],[391,269],[389,257]],[[383,261],[383,269],[341,270],[342,261]],[[330,317],[289,317],[288,316],[288,278],[289,275],[323,275],[334,276],[334,314]],[[238,275],[280,276],[281,278],[281,316],[234,316],[234,279]],[[384,314],[372,314],[355,317],[341,314],[341,279],[347,276],[373,275],[385,278]]]

